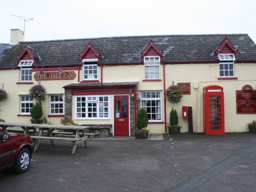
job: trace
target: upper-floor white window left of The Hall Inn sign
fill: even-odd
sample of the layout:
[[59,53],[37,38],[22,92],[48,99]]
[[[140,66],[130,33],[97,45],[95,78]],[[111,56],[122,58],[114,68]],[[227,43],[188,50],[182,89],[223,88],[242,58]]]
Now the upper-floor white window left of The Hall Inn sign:
[[32,65],[34,60],[21,60],[18,67],[20,67],[20,81],[32,81]]

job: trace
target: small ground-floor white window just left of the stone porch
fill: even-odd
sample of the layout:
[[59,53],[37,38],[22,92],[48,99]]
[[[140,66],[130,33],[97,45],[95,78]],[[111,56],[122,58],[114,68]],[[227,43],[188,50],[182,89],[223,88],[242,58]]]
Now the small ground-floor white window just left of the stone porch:
[[50,114],[63,114],[63,95],[50,95]]

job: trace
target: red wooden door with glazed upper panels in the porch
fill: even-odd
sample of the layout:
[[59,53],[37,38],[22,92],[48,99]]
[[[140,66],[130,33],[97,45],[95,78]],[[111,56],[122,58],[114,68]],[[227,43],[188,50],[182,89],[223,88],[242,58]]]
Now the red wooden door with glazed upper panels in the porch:
[[114,96],[114,135],[129,136],[129,96]]

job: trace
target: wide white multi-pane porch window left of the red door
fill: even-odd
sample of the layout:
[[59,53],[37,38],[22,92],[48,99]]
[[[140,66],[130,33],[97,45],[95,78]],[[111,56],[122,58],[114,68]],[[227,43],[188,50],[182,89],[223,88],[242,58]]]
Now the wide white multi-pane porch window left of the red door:
[[76,119],[109,119],[109,96],[76,96],[75,102]]

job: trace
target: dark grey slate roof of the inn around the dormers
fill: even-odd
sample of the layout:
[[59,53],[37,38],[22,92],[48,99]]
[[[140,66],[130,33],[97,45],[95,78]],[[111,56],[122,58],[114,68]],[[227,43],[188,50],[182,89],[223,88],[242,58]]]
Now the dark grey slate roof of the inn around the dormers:
[[163,52],[163,62],[216,61],[212,53],[225,37],[238,49],[238,61],[256,61],[256,45],[248,34],[159,35],[20,42],[2,52],[0,68],[17,67],[16,57],[26,45],[39,53],[39,67],[78,65],[81,64],[79,54],[89,42],[106,65],[141,63],[141,52],[151,40]]

